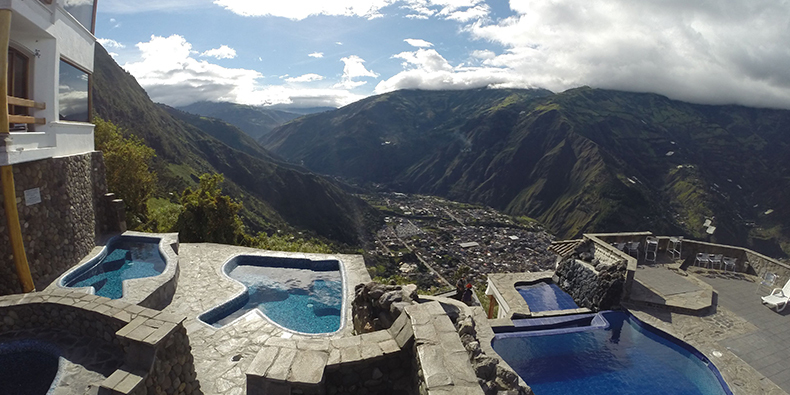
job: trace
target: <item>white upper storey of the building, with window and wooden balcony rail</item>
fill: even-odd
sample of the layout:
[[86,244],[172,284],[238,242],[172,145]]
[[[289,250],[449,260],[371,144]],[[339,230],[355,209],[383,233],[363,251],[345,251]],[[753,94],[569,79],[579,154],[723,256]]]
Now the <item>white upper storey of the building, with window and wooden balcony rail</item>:
[[96,0],[0,0],[3,30],[6,10],[9,72],[0,78],[8,79],[10,134],[0,138],[0,166],[93,151]]

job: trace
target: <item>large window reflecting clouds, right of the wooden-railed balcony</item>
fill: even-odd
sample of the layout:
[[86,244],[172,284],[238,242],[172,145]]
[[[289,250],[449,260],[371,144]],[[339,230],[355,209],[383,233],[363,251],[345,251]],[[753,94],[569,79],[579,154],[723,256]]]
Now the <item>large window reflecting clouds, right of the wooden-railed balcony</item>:
[[90,122],[88,73],[60,61],[58,101],[61,121]]

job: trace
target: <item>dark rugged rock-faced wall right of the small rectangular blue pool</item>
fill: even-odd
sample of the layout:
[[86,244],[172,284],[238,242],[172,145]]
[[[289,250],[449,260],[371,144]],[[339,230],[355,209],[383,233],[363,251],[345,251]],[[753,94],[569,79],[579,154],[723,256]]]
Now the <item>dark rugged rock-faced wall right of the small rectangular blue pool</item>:
[[615,308],[623,295],[626,261],[601,263],[594,256],[592,242],[580,245],[557,265],[557,285],[571,295],[579,307],[593,311]]

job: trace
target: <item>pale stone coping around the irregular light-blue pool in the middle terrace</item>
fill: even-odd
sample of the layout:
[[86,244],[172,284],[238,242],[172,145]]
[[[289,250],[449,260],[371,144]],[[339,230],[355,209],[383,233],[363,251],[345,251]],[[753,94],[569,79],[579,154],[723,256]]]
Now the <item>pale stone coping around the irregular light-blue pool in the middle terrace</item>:
[[[341,308],[340,308],[340,326],[338,327],[338,329],[336,331],[333,331],[333,332],[324,332],[324,333],[306,333],[306,332],[296,331],[296,330],[293,330],[293,329],[290,329],[290,328],[286,328],[286,327],[280,325],[279,323],[277,323],[273,319],[269,318],[269,316],[267,316],[264,312],[262,312],[260,309],[257,309],[257,308],[250,309],[250,311],[242,314],[241,316],[237,317],[233,321],[231,321],[231,322],[229,322],[229,323],[227,323],[227,324],[225,324],[225,325],[223,325],[222,327],[219,327],[219,328],[215,327],[214,325],[211,325],[211,324],[207,323],[206,321],[204,321],[203,318],[201,318],[204,315],[206,315],[209,312],[212,312],[214,310],[222,309],[222,308],[224,308],[226,306],[234,304],[234,303],[236,303],[238,301],[238,299],[243,298],[247,294],[247,286],[244,285],[241,281],[238,281],[238,280],[234,279],[233,277],[230,277],[230,275],[228,274],[228,271],[226,270],[226,268],[228,267],[229,264],[231,264],[235,259],[237,259],[239,257],[242,257],[242,256],[246,256],[246,257],[281,258],[281,259],[306,259],[306,260],[309,260],[309,261],[319,261],[319,260],[320,261],[326,261],[326,260],[335,260],[335,261],[337,261],[338,262],[338,271],[340,272],[341,285],[342,285],[341,293],[342,293],[342,296],[343,296],[343,301],[341,302]],[[278,328],[278,329],[280,329],[280,330],[282,330],[282,331],[284,331],[286,333],[289,333],[289,334],[295,334],[295,335],[306,336],[306,337],[314,337],[314,338],[315,337],[319,337],[319,338],[320,337],[331,337],[331,336],[338,335],[338,334],[342,333],[346,329],[347,325],[349,324],[347,322],[348,321],[347,320],[347,318],[348,318],[347,310],[350,307],[350,303],[351,303],[351,301],[349,300],[350,297],[351,297],[349,295],[349,289],[351,289],[351,288],[349,288],[349,285],[348,285],[348,281],[349,280],[348,280],[348,272],[347,272],[347,268],[346,268],[346,262],[341,257],[342,257],[342,255],[340,255],[340,254],[311,254],[311,253],[268,251],[268,250],[235,253],[235,254],[231,255],[230,257],[228,257],[228,259],[226,259],[225,262],[223,262],[222,265],[220,265],[218,267],[218,271],[219,271],[220,276],[224,280],[231,281],[234,284],[234,286],[238,286],[241,289],[238,292],[236,292],[233,296],[231,296],[229,299],[227,299],[227,300],[225,300],[223,302],[217,303],[214,306],[211,306],[211,307],[205,309],[202,313],[198,314],[195,317],[196,318],[195,321],[199,322],[204,327],[208,327],[208,328],[211,328],[213,330],[221,330],[221,329],[223,329],[223,328],[225,328],[227,326],[234,325],[235,323],[246,319],[246,317],[248,317],[250,314],[255,314],[255,315],[258,315],[259,317],[261,317],[262,319],[266,320],[266,322],[274,325],[276,328]]]

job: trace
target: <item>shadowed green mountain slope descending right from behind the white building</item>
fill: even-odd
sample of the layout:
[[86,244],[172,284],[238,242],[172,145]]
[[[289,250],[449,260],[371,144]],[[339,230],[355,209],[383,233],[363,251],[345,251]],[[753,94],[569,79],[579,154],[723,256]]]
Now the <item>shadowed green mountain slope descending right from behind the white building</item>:
[[197,176],[225,175],[229,195],[244,203],[251,231],[295,227],[356,244],[370,208],[334,183],[284,165],[237,128],[159,106],[104,48],[96,46],[93,74],[96,113],[133,133],[157,154],[163,192],[194,185]]

